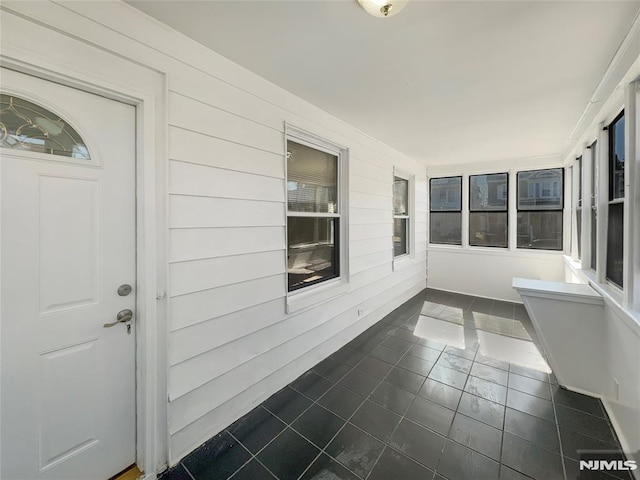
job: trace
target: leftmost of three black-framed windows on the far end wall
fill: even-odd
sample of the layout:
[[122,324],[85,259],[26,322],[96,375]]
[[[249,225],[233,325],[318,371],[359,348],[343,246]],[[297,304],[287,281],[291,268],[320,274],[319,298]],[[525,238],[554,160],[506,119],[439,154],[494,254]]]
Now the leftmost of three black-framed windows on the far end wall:
[[462,244],[462,177],[429,181],[429,241]]

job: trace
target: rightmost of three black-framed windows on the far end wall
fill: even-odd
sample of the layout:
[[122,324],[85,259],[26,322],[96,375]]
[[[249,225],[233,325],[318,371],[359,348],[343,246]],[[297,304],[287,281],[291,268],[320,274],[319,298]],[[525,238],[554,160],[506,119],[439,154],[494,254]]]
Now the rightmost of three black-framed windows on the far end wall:
[[518,172],[518,248],[562,250],[562,168]]

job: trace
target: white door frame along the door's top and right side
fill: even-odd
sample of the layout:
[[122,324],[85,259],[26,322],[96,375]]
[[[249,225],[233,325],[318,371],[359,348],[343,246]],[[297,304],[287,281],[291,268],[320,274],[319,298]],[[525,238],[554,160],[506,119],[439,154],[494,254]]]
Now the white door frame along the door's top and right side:
[[145,480],[168,463],[167,81],[122,84],[74,65],[3,45],[0,66],[136,107],[136,464]]

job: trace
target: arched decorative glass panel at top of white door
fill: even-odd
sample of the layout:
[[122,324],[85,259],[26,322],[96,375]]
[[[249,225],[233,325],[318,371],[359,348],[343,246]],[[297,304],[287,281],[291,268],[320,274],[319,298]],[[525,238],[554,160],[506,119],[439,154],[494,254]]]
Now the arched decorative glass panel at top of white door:
[[52,111],[15,95],[0,94],[0,146],[90,160],[84,140]]

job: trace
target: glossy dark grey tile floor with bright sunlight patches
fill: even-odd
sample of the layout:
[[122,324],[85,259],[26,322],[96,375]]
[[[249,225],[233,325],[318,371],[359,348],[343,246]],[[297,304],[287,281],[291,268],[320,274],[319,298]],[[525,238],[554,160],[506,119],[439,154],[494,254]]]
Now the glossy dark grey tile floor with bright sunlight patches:
[[161,478],[631,479],[578,471],[620,446],[537,345],[522,305],[427,289]]

